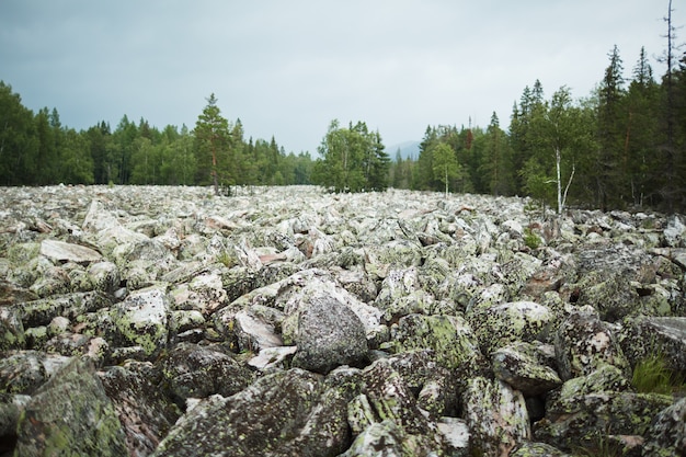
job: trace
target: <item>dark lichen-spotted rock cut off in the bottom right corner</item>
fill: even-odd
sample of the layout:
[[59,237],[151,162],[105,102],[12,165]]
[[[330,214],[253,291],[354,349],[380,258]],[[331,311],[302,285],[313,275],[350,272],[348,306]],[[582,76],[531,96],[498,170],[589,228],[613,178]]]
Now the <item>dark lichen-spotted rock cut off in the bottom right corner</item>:
[[643,455],[655,457],[686,455],[686,398],[658,413],[648,430]]

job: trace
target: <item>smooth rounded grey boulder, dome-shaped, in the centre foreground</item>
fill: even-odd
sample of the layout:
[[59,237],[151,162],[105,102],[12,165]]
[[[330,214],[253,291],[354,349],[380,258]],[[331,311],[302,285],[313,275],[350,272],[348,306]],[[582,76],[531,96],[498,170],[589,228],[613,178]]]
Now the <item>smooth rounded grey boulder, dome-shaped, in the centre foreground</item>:
[[339,365],[367,361],[365,327],[347,306],[322,294],[299,312],[294,367],[327,374]]

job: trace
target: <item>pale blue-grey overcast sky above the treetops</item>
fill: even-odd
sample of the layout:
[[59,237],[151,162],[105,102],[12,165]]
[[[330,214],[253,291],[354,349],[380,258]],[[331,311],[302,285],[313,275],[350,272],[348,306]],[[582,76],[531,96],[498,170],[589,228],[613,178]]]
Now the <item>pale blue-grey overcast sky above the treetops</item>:
[[506,128],[536,79],[546,98],[561,85],[587,96],[614,45],[627,78],[641,46],[662,76],[667,3],[0,0],[0,80],[77,129],[125,114],[193,128],[214,92],[247,138],[286,151],[315,152],[334,118],[391,147],[427,125],[485,127],[493,112]]

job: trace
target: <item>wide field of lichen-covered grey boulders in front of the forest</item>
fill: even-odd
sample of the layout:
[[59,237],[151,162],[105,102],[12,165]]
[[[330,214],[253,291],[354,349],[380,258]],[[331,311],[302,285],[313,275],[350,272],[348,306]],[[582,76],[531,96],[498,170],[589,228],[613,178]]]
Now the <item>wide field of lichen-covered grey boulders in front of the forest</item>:
[[530,206],[0,188],[0,455],[685,455],[686,219]]

